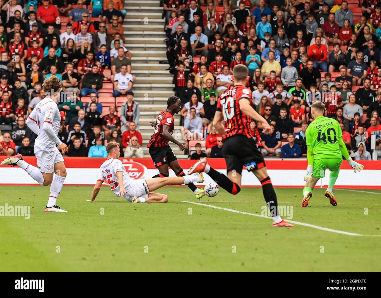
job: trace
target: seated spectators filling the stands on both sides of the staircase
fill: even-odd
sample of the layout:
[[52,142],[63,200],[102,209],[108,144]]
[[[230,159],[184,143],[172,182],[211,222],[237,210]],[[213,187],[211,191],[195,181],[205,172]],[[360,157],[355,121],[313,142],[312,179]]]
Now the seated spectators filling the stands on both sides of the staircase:
[[[124,2],[0,4],[0,124],[11,127],[0,132],[0,155],[33,155],[36,135],[25,119],[45,97],[42,81],[54,75],[63,87],[58,135],[69,156],[106,157],[104,145],[115,141],[125,157],[143,157]],[[313,98],[341,124],[352,157],[370,159],[372,134],[379,149],[380,1],[164,0],[163,17],[189,158],[222,157],[211,123],[237,64],[247,65],[251,104],[272,127],[263,134],[261,123],[250,124],[264,156],[306,154]]]

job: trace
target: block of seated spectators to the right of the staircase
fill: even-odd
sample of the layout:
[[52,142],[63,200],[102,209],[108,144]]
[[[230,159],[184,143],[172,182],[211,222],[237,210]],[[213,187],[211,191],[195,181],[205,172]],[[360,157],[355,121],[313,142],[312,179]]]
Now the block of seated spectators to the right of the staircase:
[[166,0],[164,11],[189,159],[222,157],[211,123],[237,64],[247,65],[251,104],[272,127],[264,134],[261,123],[251,123],[264,156],[306,155],[314,100],[341,124],[352,157],[370,159],[372,134],[380,149],[380,1]]

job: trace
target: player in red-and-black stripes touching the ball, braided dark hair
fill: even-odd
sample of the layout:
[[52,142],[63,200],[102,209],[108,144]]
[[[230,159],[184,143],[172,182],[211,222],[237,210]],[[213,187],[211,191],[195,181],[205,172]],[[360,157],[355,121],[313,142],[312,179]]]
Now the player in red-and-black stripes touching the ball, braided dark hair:
[[[168,166],[173,170],[176,176],[185,176],[182,171],[176,155],[174,155],[172,148],[168,145],[169,141],[179,146],[180,150],[185,149],[184,145],[176,140],[173,136],[174,129],[174,114],[178,114],[181,110],[181,99],[176,96],[171,96],[167,100],[167,109],[159,114],[156,121],[151,121],[151,126],[154,127],[154,134],[147,147],[149,148],[149,155],[159,170],[159,174],[152,178],[168,177]],[[188,183],[187,186],[194,192],[197,199],[202,197],[203,191],[197,188],[193,183]]]

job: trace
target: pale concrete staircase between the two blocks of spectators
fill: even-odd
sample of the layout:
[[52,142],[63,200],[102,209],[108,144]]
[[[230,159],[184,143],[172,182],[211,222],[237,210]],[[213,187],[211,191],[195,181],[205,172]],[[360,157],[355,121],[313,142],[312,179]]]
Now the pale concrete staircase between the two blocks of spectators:
[[[137,6],[140,5],[140,6]],[[168,97],[173,96],[172,75],[165,70],[166,45],[164,42],[165,19],[159,0],[125,1],[127,11],[123,27],[126,38],[125,46],[133,54],[132,73],[136,76],[133,86],[134,100],[140,104],[140,132],[143,137],[144,157],[150,157],[146,148],[153,128],[149,121],[166,109]],[[174,137],[180,139],[179,116],[175,115]],[[171,143],[178,159],[187,158],[179,148]]]

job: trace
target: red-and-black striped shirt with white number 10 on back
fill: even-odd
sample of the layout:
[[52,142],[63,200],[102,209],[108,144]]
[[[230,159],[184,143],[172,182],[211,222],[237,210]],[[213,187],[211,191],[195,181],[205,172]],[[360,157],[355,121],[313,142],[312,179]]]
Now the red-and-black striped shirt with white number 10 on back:
[[222,112],[225,123],[226,139],[236,134],[246,135],[248,138],[254,137],[251,134],[251,118],[246,116],[239,108],[241,99],[251,100],[251,90],[239,86],[229,86],[218,99],[216,111]]

